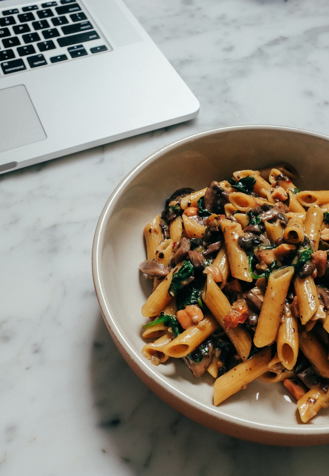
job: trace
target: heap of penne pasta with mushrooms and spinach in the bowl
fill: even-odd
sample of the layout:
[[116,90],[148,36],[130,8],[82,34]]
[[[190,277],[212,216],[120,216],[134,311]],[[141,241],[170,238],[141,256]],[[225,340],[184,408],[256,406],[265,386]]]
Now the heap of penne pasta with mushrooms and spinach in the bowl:
[[329,407],[329,192],[294,178],[239,170],[167,199],[144,228],[142,354],[208,372],[214,405],[256,378],[284,385],[306,423]]

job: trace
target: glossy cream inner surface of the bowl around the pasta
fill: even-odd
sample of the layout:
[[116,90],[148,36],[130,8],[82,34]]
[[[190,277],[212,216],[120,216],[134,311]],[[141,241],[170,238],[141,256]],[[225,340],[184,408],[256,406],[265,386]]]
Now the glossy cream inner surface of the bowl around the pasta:
[[[200,135],[156,154],[134,172],[113,197],[103,220],[102,249],[98,260],[104,306],[109,325],[126,342],[126,350],[150,367],[164,385],[190,399],[212,406],[213,379],[195,379],[180,361],[152,366],[141,356],[141,325],[148,321],[140,308],[152,282],[139,272],[146,258],[143,228],[164,208],[164,201],[179,187],[204,188],[212,180],[231,177],[235,170],[260,169],[288,162],[299,172],[301,189],[327,188],[329,141],[292,130],[240,129]],[[259,380],[230,397],[215,412],[273,426],[296,426],[296,403],[282,384]],[[321,411],[310,426],[326,425],[328,411]]]

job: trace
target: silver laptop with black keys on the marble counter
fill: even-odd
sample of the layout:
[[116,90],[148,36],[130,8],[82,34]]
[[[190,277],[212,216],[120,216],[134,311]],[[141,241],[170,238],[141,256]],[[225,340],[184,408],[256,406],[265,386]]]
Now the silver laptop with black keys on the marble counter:
[[198,111],[120,0],[0,0],[0,173]]

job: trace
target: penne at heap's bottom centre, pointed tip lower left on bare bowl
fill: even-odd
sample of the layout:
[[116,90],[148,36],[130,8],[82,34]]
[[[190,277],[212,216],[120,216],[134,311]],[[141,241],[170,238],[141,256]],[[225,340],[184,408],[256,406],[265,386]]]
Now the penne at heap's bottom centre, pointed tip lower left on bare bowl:
[[214,405],[219,405],[239,390],[247,388],[250,382],[268,370],[270,358],[271,349],[266,347],[246,362],[242,362],[218,377],[214,383]]

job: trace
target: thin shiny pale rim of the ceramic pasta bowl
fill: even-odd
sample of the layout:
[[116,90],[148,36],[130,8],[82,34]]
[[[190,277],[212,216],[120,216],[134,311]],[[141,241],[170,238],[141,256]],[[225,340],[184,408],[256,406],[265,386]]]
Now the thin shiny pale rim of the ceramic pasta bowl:
[[[212,135],[215,135],[218,133],[232,131],[232,130],[238,131],[243,129],[289,131],[296,134],[305,134],[305,135],[329,140],[329,136],[325,134],[310,131],[307,129],[292,128],[287,126],[274,126],[274,125],[229,126],[229,127],[222,127],[222,128],[216,128],[216,129],[209,129],[202,132],[190,134],[189,136],[186,136],[182,139],[177,139],[169,143],[168,145],[161,147],[160,149],[156,150],[145,159],[141,160],[140,163],[138,163],[133,169],[131,169],[130,172],[120,181],[117,187],[113,190],[113,192],[111,193],[110,197],[108,198],[107,202],[105,203],[101,211],[100,218],[97,223],[97,227],[96,227],[94,239],[93,239],[93,244],[92,244],[92,276],[93,276],[96,296],[99,302],[102,316],[108,327],[108,330],[110,331],[110,335],[113,338],[122,356],[125,358],[125,360],[130,365],[130,367],[134,370],[134,372],[138,374],[141,380],[144,383],[146,383],[146,385],[151,387],[151,389],[159,397],[163,398],[167,403],[169,403],[170,406],[174,407],[175,409],[178,409],[182,413],[185,413],[184,411],[181,410],[181,404],[183,403],[188,406],[192,406],[196,408],[197,412],[199,412],[200,415],[202,414],[204,416],[207,415],[207,417],[209,417],[210,415],[211,417],[213,417],[217,421],[222,422],[223,424],[227,423],[229,426],[244,427],[245,429],[254,430],[255,432],[260,432],[260,433],[266,432],[270,434],[268,441],[264,441],[262,438],[259,438],[259,437],[257,437],[256,439],[253,439],[251,436],[247,436],[244,438],[244,439],[249,439],[251,441],[258,441],[258,442],[278,444],[278,445],[283,445],[283,444],[287,445],[289,444],[289,440],[287,440],[287,437],[294,436],[297,439],[294,440],[292,443],[290,443],[290,446],[297,446],[300,444],[301,445],[323,444],[324,442],[329,442],[329,423],[320,424],[317,426],[305,425],[305,424],[302,425],[302,424],[297,424],[297,422],[295,425],[262,423],[255,420],[250,420],[248,417],[240,417],[240,416],[237,417],[234,415],[230,415],[229,413],[223,410],[220,410],[219,407],[215,407],[215,406],[209,407],[207,404],[204,404],[201,401],[196,400],[193,396],[187,395],[184,392],[180,391],[178,388],[175,388],[174,386],[172,386],[167,380],[163,378],[163,376],[159,372],[156,372],[156,368],[154,369],[150,368],[148,366],[146,359],[142,357],[142,354],[141,353],[139,354],[133,347],[130,346],[129,342],[127,342],[120,328],[116,324],[115,317],[112,316],[111,309],[106,304],[106,299],[104,297],[104,293],[102,290],[102,284],[101,284],[102,279],[100,276],[101,268],[102,268],[102,265],[101,265],[102,257],[101,257],[100,245],[102,243],[103,233],[106,229],[107,220],[110,217],[110,210],[112,206],[115,205],[121,191],[124,188],[126,188],[130,184],[130,182],[150,163],[159,159],[164,153],[168,152],[169,150],[175,149],[179,145],[194,141],[201,137],[206,137],[206,136],[211,137]],[[139,368],[138,372],[137,372],[137,367]],[[151,385],[152,381],[154,382],[155,387]],[[177,400],[176,403],[178,403],[178,405],[175,405],[172,401],[169,401],[168,397],[167,398],[163,397],[161,393],[159,392],[159,387],[163,388],[165,392],[169,392],[169,394],[172,395]],[[193,419],[195,419],[196,421],[199,421],[199,423],[203,423],[202,420],[199,418],[193,418]],[[203,423],[203,424],[205,424],[206,426],[209,426],[207,425],[207,423]],[[232,430],[225,431],[225,426],[221,429],[216,428],[216,425],[212,427],[222,433],[227,433],[227,434],[231,434],[231,436],[243,438],[243,435],[239,436],[239,431],[235,431],[234,434],[232,433]],[[282,434],[285,434],[286,437],[283,438],[281,443],[280,441],[278,441],[278,436]],[[307,436],[307,438],[310,438],[311,436],[320,437],[325,435],[327,435],[327,438],[325,439],[322,438],[322,440],[320,438],[321,440],[320,442],[312,442],[312,441],[309,441],[309,439],[304,441],[302,438],[300,439],[300,441],[298,440],[298,437]]]

